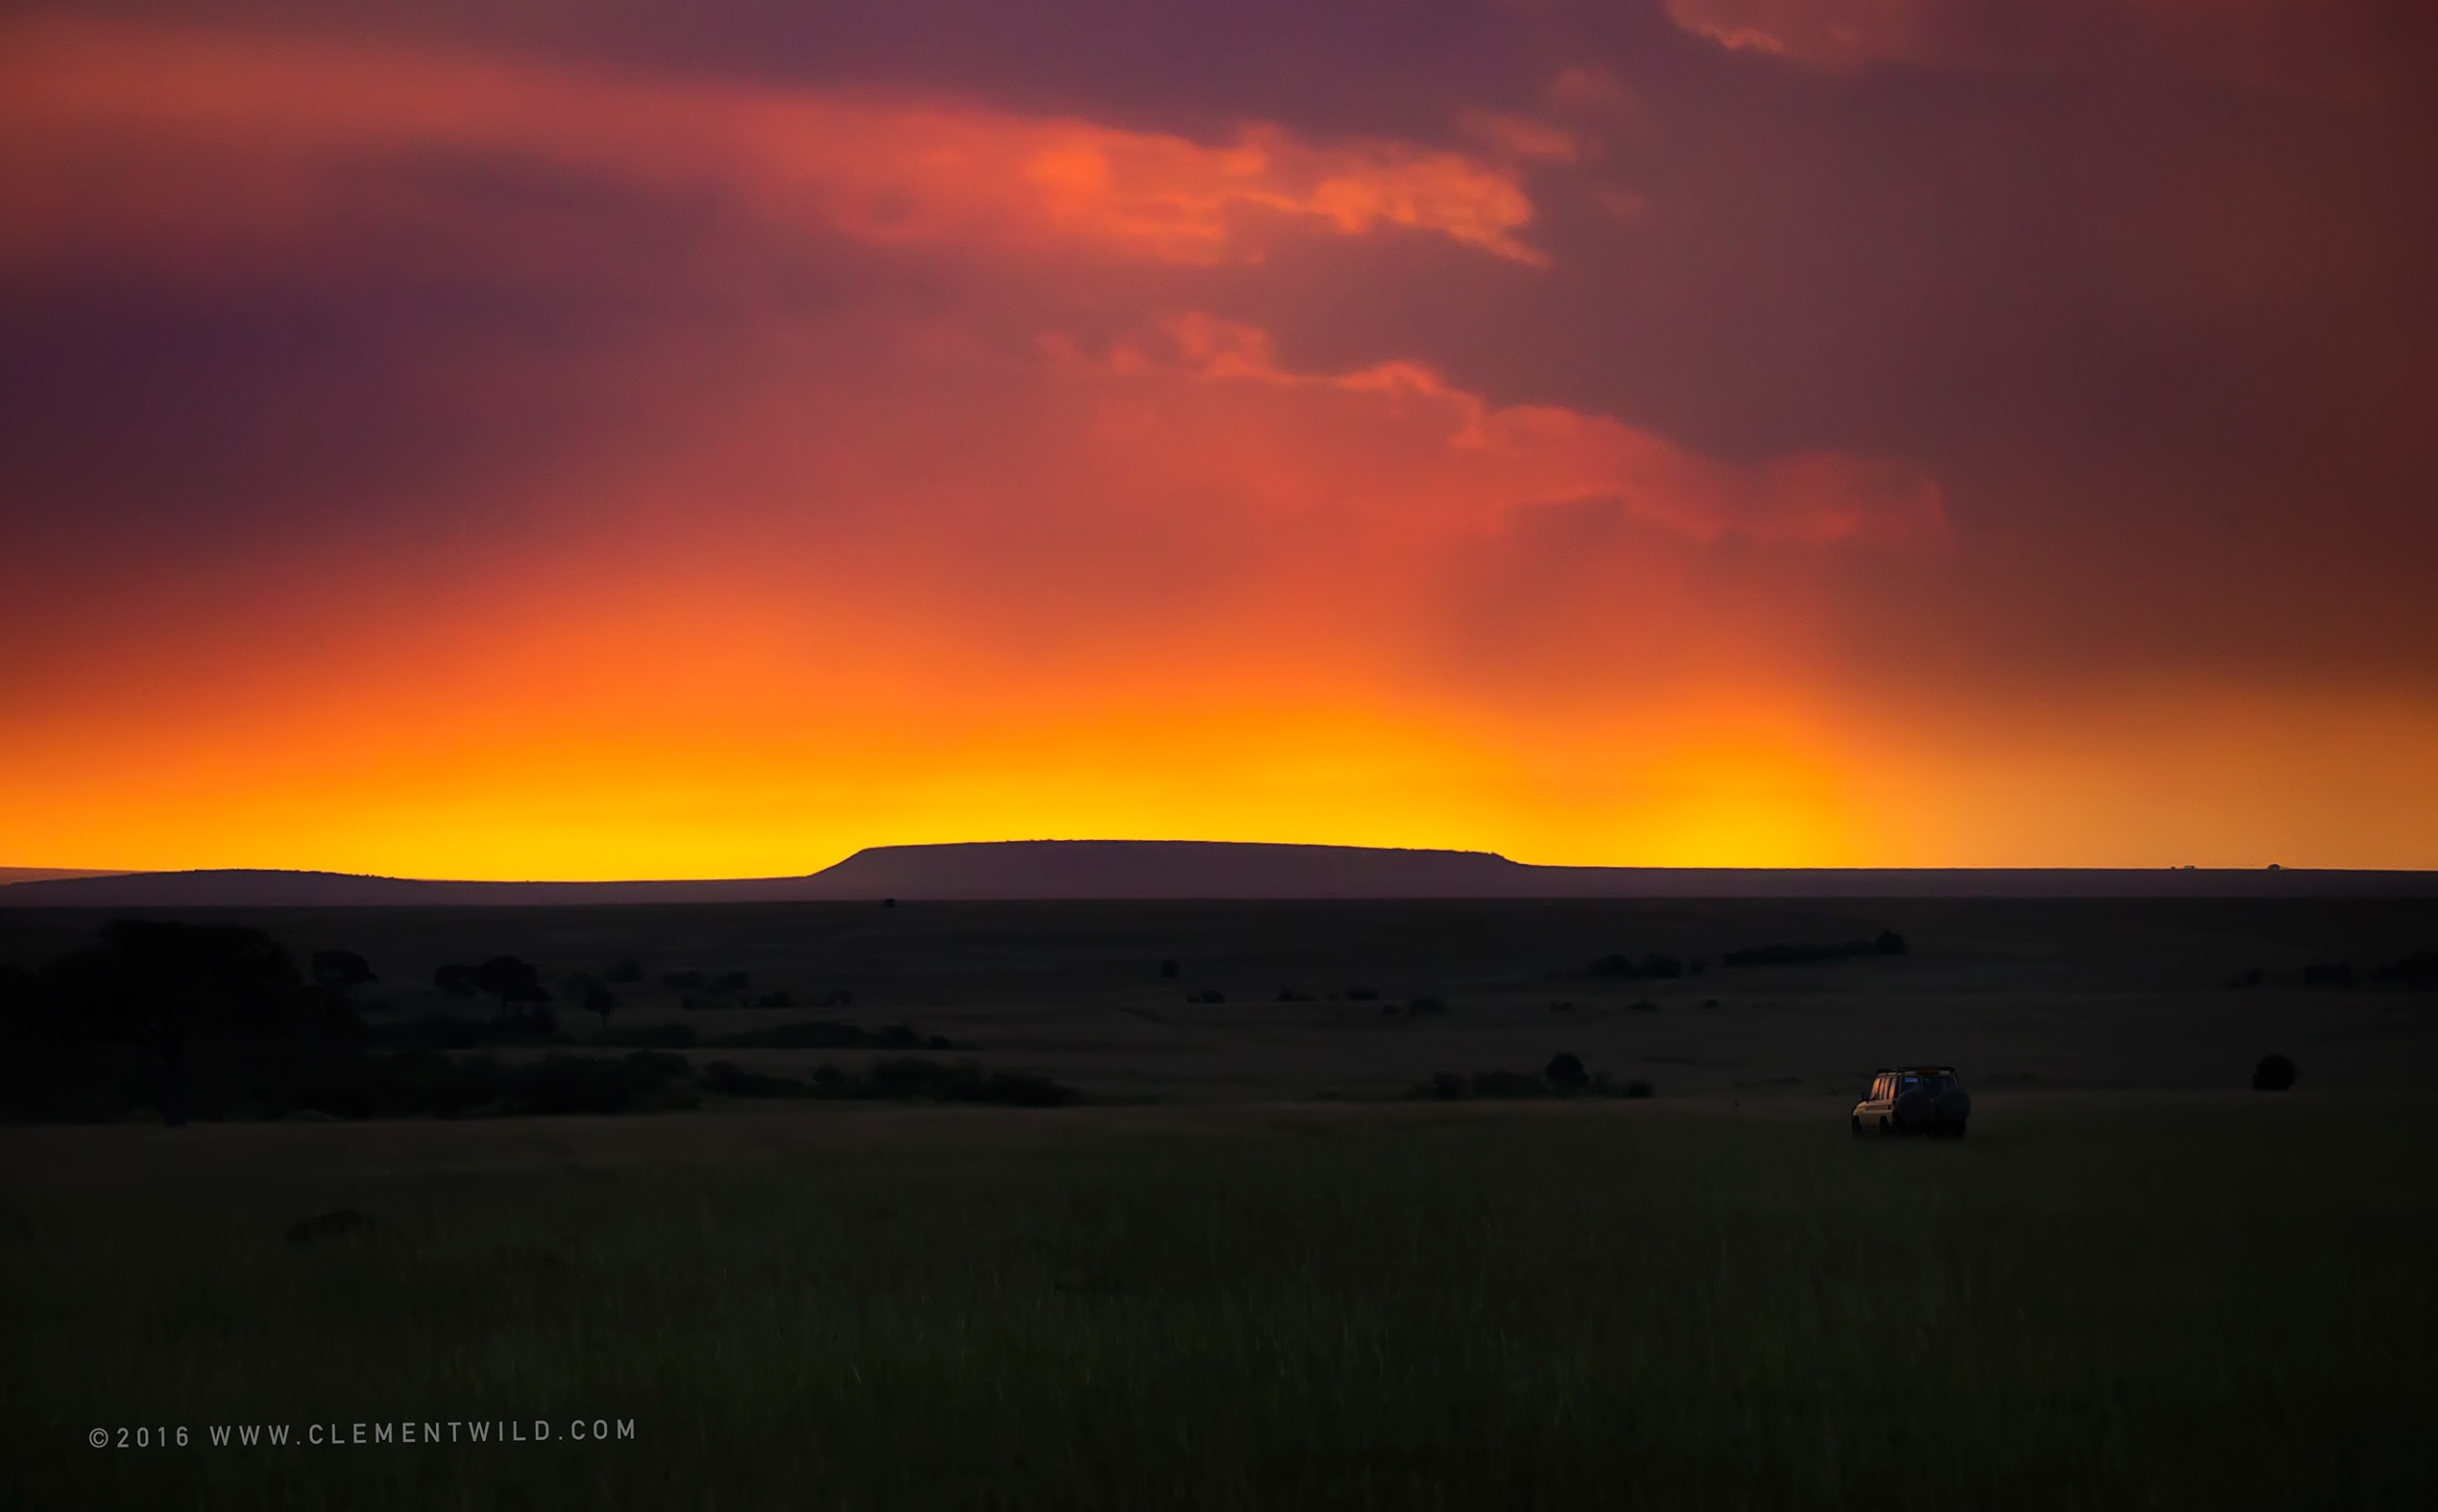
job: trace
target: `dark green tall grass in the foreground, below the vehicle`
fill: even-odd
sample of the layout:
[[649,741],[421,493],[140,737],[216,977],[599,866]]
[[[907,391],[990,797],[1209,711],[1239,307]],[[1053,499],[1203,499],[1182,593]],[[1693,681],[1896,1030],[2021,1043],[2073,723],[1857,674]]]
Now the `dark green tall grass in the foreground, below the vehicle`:
[[[275,1168],[12,1171],[0,1495],[2433,1505],[2421,1112],[2094,1107],[1967,1146],[1668,1107],[673,1117],[734,1149],[393,1163],[351,1188],[383,1232],[307,1249]],[[85,1446],[449,1417],[636,1439]]]

